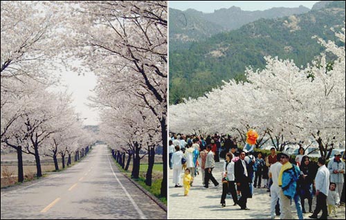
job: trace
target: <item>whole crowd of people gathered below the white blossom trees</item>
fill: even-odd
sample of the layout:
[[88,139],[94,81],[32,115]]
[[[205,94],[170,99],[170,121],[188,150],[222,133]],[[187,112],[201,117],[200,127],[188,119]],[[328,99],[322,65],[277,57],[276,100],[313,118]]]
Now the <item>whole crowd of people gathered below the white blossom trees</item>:
[[[222,143],[222,145],[221,145]],[[298,156],[277,154],[275,147],[271,154],[262,155],[254,152],[254,146],[245,145],[238,148],[237,140],[232,136],[172,135],[170,140],[170,169],[173,169],[175,187],[184,187],[184,196],[188,196],[194,178],[201,170],[203,187],[208,189],[210,181],[215,187],[222,185],[221,207],[226,206],[226,196],[230,195],[233,205],[241,210],[250,210],[247,200],[252,198],[254,188],[265,187],[271,196],[271,218],[280,215],[281,219],[292,219],[291,202],[294,201],[298,218],[303,213],[311,212],[311,219],[327,219],[329,214],[337,216],[336,208],[340,205],[343,192],[343,174],[345,163],[336,153],[326,166],[323,157],[318,158],[317,165],[305,155],[300,147]],[[212,174],[215,163],[225,158],[221,183]],[[199,162],[200,161],[200,162]],[[181,172],[184,171],[183,186]],[[263,186],[262,186],[263,180]],[[316,196],[316,208],[313,210],[313,196]],[[309,210],[305,208],[305,199]]]

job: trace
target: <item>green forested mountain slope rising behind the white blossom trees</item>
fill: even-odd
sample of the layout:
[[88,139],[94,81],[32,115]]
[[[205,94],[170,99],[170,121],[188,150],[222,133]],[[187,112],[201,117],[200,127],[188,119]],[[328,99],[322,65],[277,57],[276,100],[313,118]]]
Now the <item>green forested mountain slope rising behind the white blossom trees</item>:
[[[338,30],[343,26],[345,2],[294,16],[295,19],[260,19],[238,30],[193,42],[185,49],[170,50],[170,104],[200,97],[221,86],[221,80],[246,80],[246,67],[264,68],[264,56],[293,59],[297,66],[306,66],[324,49],[311,37],[336,42],[330,28]],[[291,27],[294,20],[298,21],[297,28]],[[327,57],[329,61],[333,58]]]

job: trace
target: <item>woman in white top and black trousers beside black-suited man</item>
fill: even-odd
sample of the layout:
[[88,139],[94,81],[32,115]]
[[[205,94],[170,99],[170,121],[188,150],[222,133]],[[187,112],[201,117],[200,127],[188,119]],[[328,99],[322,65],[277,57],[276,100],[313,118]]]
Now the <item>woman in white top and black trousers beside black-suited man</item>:
[[237,192],[235,192],[235,163],[232,161],[232,154],[226,154],[226,161],[224,162],[224,172],[226,174],[227,182],[222,183],[221,206],[226,206],[226,195],[228,192],[232,195],[234,204],[237,205]]

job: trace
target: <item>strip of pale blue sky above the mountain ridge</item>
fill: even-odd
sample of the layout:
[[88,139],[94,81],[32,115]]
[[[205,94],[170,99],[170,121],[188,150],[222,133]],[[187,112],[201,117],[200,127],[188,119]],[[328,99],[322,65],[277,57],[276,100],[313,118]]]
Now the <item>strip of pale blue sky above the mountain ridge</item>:
[[310,8],[318,1],[168,1],[170,8],[186,10],[193,8],[201,12],[214,12],[220,8],[237,6],[242,10],[266,10],[273,7],[295,8],[300,5]]

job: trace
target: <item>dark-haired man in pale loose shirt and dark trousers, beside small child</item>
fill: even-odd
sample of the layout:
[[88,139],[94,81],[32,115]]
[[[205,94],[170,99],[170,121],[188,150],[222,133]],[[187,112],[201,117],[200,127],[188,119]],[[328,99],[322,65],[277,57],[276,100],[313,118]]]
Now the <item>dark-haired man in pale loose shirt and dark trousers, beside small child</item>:
[[329,191],[329,170],[325,166],[325,158],[318,158],[319,166],[316,178],[315,178],[315,187],[316,187],[316,209],[313,211],[313,214],[309,216],[311,219],[317,219],[317,215],[322,210],[322,215],[320,219],[327,219],[327,196]]

